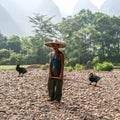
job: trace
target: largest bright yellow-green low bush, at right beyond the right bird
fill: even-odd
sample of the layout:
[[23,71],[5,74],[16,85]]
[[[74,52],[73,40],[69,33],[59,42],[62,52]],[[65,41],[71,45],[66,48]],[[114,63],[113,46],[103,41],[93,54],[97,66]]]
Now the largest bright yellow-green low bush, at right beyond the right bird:
[[114,65],[111,62],[103,62],[103,63],[97,63],[94,66],[94,70],[101,70],[101,71],[112,71],[114,69]]

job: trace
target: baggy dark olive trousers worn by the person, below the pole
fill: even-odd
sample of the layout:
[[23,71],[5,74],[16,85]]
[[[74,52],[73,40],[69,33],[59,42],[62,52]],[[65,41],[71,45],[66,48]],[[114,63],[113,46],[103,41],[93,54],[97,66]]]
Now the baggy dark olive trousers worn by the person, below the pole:
[[55,78],[48,79],[48,93],[51,101],[57,100],[60,102],[62,97],[62,86],[63,80]]

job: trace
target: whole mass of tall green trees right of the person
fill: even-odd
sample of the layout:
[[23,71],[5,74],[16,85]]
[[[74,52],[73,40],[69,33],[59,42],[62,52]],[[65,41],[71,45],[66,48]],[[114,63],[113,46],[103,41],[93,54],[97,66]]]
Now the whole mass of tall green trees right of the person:
[[93,65],[106,60],[119,62],[114,57],[116,53],[120,53],[120,32],[117,27],[120,21],[118,22],[118,19],[103,13],[92,14],[86,10],[64,19],[58,27],[67,43],[66,63],[68,65],[87,64],[95,56],[99,56],[99,59],[95,58]]

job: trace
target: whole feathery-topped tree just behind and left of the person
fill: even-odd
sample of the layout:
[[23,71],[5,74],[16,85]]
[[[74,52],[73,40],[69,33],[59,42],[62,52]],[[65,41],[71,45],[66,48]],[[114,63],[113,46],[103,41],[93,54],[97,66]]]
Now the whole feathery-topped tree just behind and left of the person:
[[29,18],[30,22],[34,24],[33,28],[35,32],[35,36],[29,38],[31,54],[36,56],[37,63],[42,64],[48,62],[48,54],[50,50],[44,47],[44,43],[58,38],[61,34],[57,30],[56,25],[51,22],[52,17],[35,14],[34,17]]

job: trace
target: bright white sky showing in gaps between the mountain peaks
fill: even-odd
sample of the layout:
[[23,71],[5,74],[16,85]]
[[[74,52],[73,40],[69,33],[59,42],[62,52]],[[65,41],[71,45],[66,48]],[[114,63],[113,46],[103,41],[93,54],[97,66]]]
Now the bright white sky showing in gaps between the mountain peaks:
[[[66,12],[67,14],[71,14],[73,8],[78,0],[53,0],[59,7],[62,13]],[[100,8],[101,4],[105,0],[90,0],[95,6]]]

